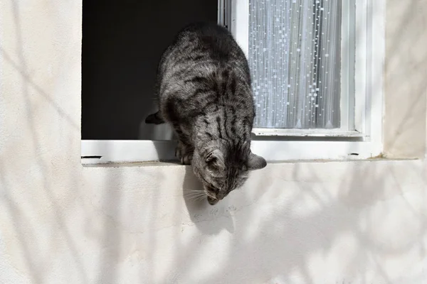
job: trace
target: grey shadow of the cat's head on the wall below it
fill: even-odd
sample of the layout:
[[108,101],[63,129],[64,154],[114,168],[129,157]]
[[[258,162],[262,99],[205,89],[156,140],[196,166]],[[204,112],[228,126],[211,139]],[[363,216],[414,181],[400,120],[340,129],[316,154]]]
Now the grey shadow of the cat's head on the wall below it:
[[230,214],[231,206],[228,204],[227,198],[211,205],[206,198],[194,200],[194,198],[189,197],[189,191],[203,190],[203,185],[194,175],[190,165],[185,166],[182,190],[189,217],[202,233],[214,235],[223,229],[230,233],[234,232],[233,216]]

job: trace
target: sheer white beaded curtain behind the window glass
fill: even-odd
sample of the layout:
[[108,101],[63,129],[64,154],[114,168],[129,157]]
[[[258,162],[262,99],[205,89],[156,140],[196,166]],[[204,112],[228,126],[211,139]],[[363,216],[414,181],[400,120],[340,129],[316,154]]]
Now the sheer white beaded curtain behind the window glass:
[[249,0],[255,127],[339,128],[340,0]]

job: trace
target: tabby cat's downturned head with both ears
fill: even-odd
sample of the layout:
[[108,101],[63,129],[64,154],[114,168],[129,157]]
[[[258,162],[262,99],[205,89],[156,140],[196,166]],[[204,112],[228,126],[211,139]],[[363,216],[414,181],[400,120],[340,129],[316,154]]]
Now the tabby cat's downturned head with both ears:
[[194,151],[191,164],[194,174],[203,183],[209,204],[214,205],[241,187],[250,170],[264,168],[267,162],[251,152],[249,143],[234,145],[221,141],[205,144],[204,148]]

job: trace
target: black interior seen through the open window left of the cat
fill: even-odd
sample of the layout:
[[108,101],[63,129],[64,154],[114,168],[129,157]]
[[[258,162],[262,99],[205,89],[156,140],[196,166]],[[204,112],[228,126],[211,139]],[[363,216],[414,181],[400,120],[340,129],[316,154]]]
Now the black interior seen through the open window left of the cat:
[[217,7],[217,0],[83,1],[82,139],[171,139],[169,126],[144,124],[157,111],[157,62],[186,24],[216,22]]

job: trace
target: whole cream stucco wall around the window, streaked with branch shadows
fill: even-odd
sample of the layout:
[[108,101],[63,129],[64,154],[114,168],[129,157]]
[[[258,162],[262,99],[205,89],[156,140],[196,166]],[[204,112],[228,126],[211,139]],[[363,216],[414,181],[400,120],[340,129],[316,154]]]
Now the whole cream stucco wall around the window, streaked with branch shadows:
[[[426,153],[426,2],[387,1],[398,158]],[[80,39],[81,1],[0,1],[0,283],[427,282],[423,159],[270,164],[217,207],[184,166],[83,168]]]

